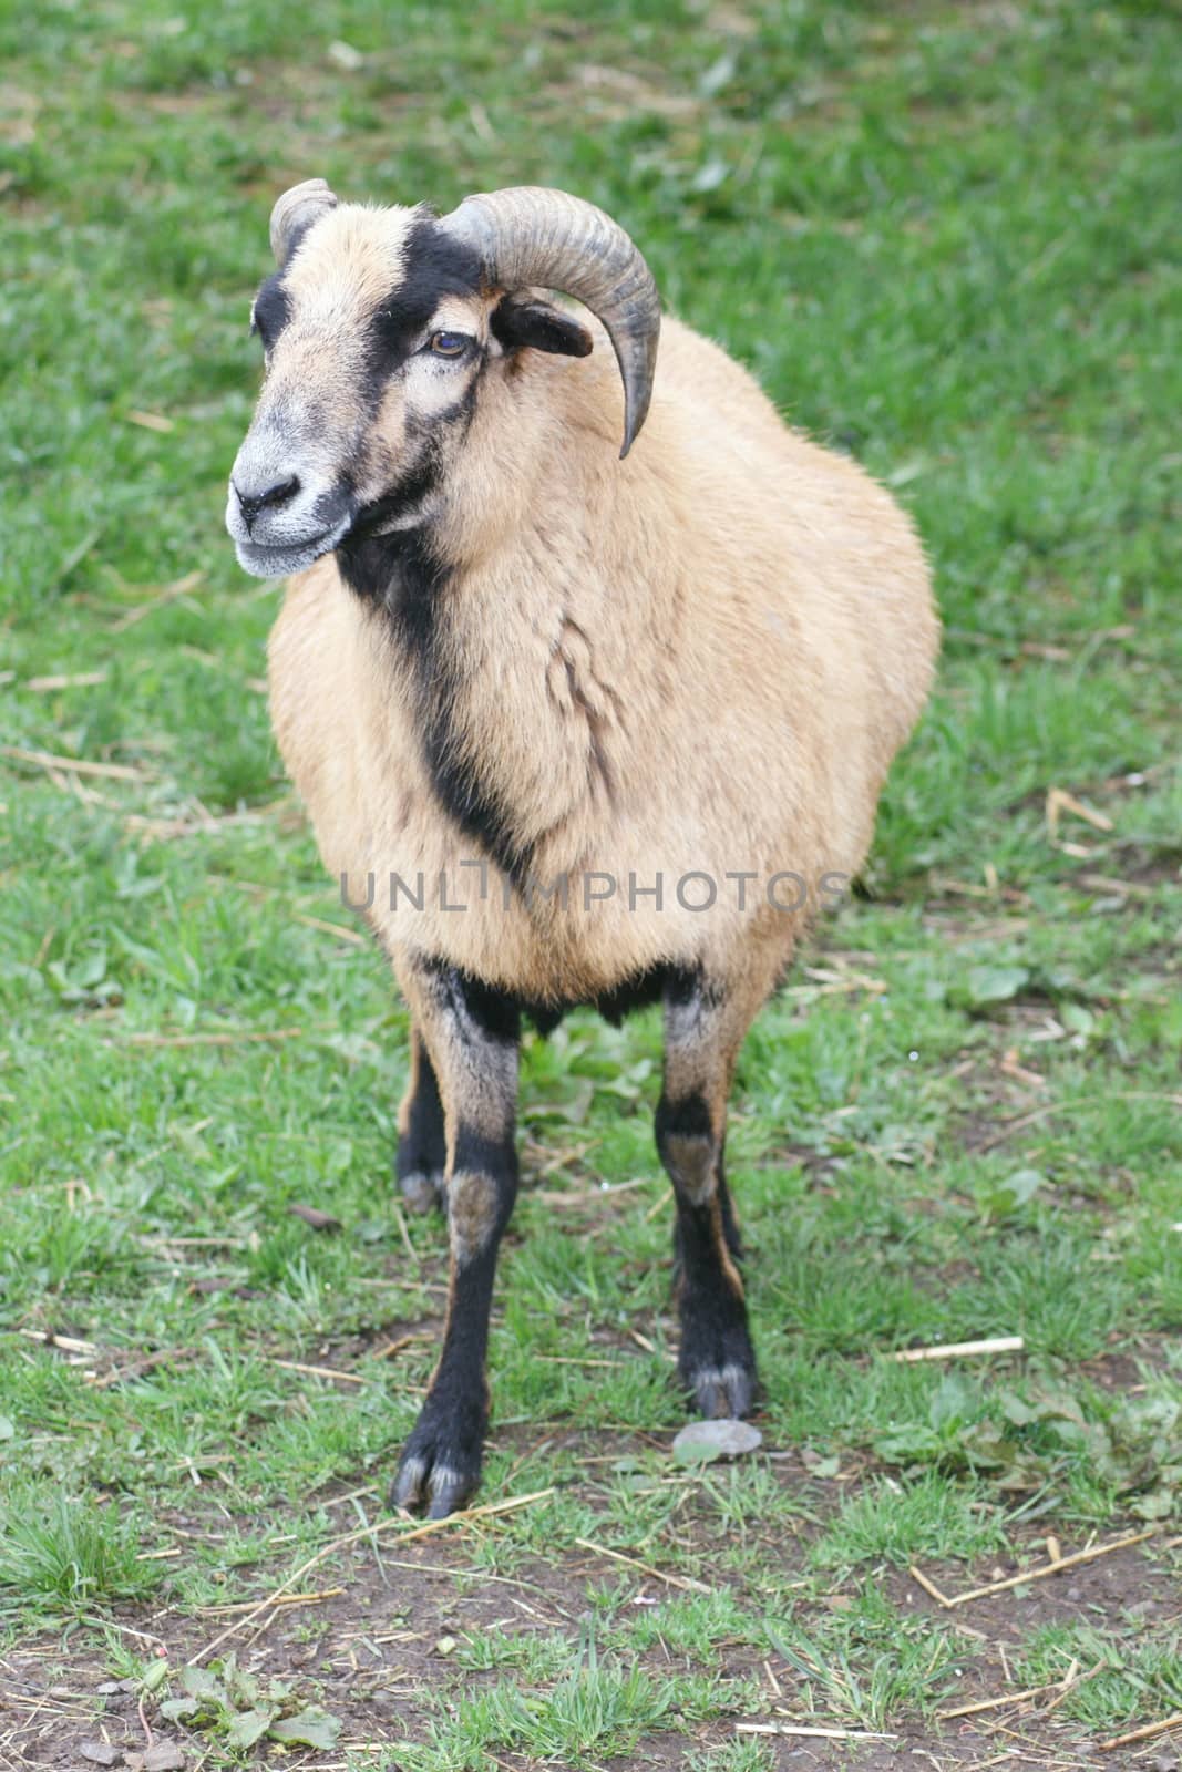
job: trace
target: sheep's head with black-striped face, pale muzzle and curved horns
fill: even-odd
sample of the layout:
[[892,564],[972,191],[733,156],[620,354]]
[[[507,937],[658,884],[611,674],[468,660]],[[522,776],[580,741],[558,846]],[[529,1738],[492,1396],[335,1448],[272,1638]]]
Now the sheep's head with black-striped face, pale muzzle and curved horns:
[[278,269],[252,323],[266,379],[230,473],[225,523],[259,578],[346,537],[415,528],[486,376],[523,347],[585,356],[592,337],[537,289],[578,296],[624,377],[627,454],[649,409],[661,324],[636,246],[601,209],[530,186],[429,209],[337,204],[323,179],[271,214]]

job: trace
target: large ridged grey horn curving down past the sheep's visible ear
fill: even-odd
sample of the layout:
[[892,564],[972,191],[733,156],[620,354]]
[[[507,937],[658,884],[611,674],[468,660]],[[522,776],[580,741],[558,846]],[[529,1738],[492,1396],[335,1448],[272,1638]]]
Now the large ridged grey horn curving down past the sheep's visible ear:
[[624,377],[627,455],[652,397],[661,298],[624,229],[594,204],[537,184],[464,197],[439,225],[480,255],[491,282],[562,289],[603,321]]

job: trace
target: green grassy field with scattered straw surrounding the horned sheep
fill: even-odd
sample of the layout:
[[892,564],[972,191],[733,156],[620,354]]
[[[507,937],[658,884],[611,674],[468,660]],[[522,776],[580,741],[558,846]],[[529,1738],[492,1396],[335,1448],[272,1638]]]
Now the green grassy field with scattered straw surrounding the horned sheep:
[[[0,18],[0,1763],[1173,1763],[1097,1749],[1182,1712],[1182,16],[177,5]],[[574,1017],[493,1325],[480,1501],[533,1499],[429,1538],[406,1021],[222,530],[308,174],[601,202],[898,491],[946,622],[741,1063],[764,1451],[672,1460],[659,1030]],[[1024,1348],[893,1357],[980,1336]]]

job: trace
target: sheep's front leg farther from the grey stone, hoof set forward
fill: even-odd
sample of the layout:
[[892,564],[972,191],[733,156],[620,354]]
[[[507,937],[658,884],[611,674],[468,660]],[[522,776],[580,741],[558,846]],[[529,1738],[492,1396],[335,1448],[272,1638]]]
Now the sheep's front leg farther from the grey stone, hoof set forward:
[[439,1364],[390,1499],[443,1519],[480,1480],[493,1274],[517,1193],[519,1015],[512,998],[450,966],[408,962],[399,978],[443,1104],[450,1285]]

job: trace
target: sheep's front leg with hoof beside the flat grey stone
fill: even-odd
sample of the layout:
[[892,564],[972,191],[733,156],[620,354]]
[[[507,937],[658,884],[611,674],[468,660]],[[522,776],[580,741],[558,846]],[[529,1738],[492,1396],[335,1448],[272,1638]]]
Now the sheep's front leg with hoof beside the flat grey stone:
[[673,980],[665,994],[656,1134],[677,1201],[677,1370],[704,1416],[744,1416],[755,1400],[739,1233],[723,1171],[727,1095],[751,1014],[741,996],[700,975]]

